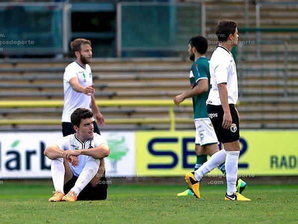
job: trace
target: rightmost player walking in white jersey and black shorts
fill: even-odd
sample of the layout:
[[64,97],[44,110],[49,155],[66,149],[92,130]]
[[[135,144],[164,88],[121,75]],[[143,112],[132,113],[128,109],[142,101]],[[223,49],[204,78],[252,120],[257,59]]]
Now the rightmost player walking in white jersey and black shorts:
[[[219,46],[210,59],[211,90],[207,99],[207,112],[224,149],[201,166],[216,167],[225,162],[227,191],[224,200],[250,201],[236,190],[239,144],[239,113],[235,107],[238,99],[237,71],[230,50],[238,44],[237,23],[222,20],[216,27]],[[211,171],[211,170],[209,170]],[[195,191],[202,179],[200,173],[187,175],[187,182]]]

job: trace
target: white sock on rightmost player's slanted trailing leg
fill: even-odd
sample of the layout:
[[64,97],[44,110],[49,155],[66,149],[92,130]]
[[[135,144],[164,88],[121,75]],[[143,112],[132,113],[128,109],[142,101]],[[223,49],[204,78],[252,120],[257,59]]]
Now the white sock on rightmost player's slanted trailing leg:
[[224,149],[214,153],[207,162],[195,171],[195,178],[197,181],[201,181],[204,175],[221,165],[225,161],[225,156],[226,151]]

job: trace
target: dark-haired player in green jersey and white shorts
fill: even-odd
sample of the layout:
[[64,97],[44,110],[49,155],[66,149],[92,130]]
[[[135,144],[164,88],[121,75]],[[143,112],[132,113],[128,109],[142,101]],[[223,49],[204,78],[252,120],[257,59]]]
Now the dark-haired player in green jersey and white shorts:
[[[205,56],[207,49],[208,42],[205,37],[194,36],[189,40],[189,59],[194,61],[189,77],[191,89],[174,98],[174,103],[177,106],[186,98],[192,97],[193,100],[194,122],[196,126],[195,151],[197,155],[195,171],[207,161],[207,154],[212,156],[219,151],[218,139],[207,114],[206,106],[206,100],[210,91],[209,59]],[[225,174],[224,164],[221,164],[219,169]],[[239,179],[240,182],[245,183]],[[239,185],[239,191],[243,191],[245,185],[242,188]],[[177,195],[193,195],[193,192],[191,189],[187,189]],[[196,196],[200,198],[200,193],[198,192]]]

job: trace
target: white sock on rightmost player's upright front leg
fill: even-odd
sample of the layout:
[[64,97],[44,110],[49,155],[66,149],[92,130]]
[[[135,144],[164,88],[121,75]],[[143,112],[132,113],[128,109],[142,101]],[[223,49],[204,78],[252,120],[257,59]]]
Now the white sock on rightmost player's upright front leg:
[[232,195],[236,192],[236,181],[238,171],[238,158],[240,151],[227,151],[225,158],[226,193]]

